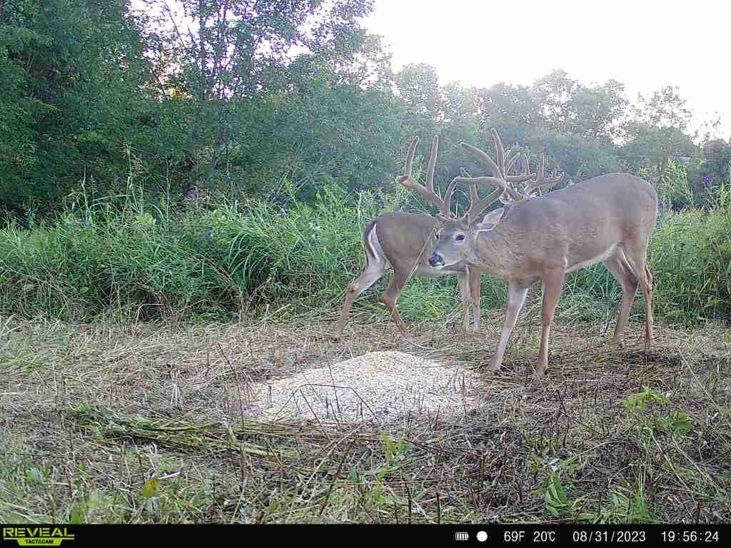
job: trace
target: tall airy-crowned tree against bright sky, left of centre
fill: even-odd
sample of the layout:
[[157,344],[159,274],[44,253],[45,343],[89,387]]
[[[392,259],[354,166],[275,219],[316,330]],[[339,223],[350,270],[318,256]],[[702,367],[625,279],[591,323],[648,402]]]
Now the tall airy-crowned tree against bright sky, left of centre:
[[[161,18],[150,35],[150,52],[177,60],[169,75],[184,83],[194,104],[181,140],[191,159],[189,183],[232,184],[232,145],[249,125],[243,115],[251,102],[293,91],[302,78],[298,56],[340,67],[349,76],[363,66],[349,63],[373,45],[357,21],[372,9],[371,0],[150,0]],[[183,27],[181,20],[192,24]],[[170,30],[165,30],[169,27]],[[165,47],[163,44],[170,44]],[[371,58],[368,58],[371,60]],[[376,72],[382,64],[376,63]],[[372,68],[368,66],[368,68]],[[262,112],[260,110],[260,112]]]

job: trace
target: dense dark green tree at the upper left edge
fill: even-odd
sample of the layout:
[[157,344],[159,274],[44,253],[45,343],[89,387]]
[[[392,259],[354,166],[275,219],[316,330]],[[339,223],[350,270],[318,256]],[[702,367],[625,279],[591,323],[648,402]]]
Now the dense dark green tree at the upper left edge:
[[[108,191],[124,144],[144,125],[147,76],[137,22],[123,0],[7,0],[0,4],[0,172],[5,207],[49,208],[86,177]],[[6,161],[6,160],[0,160]]]

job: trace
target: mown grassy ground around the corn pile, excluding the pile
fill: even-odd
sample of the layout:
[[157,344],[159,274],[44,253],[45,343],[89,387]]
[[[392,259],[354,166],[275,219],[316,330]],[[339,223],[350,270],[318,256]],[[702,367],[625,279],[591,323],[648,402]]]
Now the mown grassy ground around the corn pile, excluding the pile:
[[[551,333],[537,308],[504,368],[482,332],[338,311],[251,324],[1,319],[2,522],[728,522],[731,337],[656,324]],[[368,351],[468,366],[480,406],[376,425],[254,422],[246,387]]]

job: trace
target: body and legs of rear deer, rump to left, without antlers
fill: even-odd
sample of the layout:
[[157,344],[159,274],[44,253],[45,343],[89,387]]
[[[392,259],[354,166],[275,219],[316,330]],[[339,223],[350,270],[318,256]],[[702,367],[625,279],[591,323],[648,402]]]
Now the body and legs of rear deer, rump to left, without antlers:
[[428,257],[433,252],[434,233],[438,219],[428,215],[393,211],[374,218],[363,230],[363,250],[366,268],[347,289],[343,311],[333,330],[333,338],[341,337],[352,303],[366,289],[393,269],[393,281],[381,294],[380,300],[388,307],[398,330],[411,337],[398,313],[397,302],[401,291],[412,275],[442,278],[456,275],[462,297],[464,329],[469,329],[469,300],[472,300],[474,331],[480,330],[480,273],[470,276],[463,262],[447,267],[432,267]]

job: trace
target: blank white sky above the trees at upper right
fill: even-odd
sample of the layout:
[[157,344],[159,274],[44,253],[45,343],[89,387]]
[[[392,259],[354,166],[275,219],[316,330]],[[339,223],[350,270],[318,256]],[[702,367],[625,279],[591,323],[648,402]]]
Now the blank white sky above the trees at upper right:
[[694,127],[720,115],[717,137],[731,137],[727,0],[375,0],[365,25],[395,70],[431,64],[442,85],[531,85],[564,69],[584,84],[618,80],[632,102],[676,85]]

